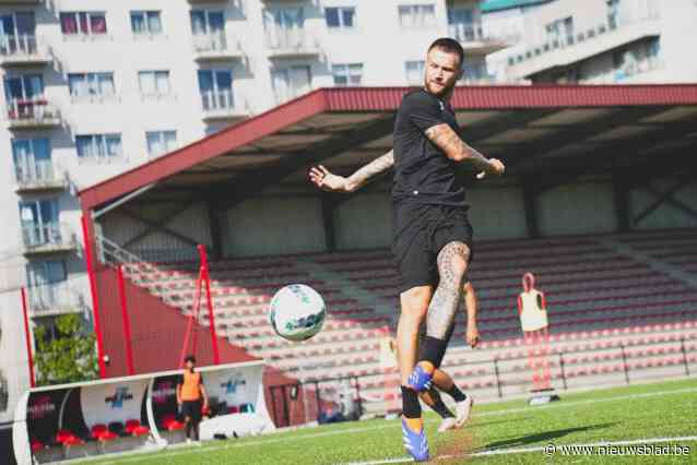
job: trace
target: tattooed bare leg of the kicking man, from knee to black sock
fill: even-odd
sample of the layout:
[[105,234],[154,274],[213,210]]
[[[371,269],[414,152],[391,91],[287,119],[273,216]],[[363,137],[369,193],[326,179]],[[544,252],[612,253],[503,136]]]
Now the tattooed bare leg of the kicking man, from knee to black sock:
[[[440,283],[428,305],[426,334],[442,341],[452,323],[462,296],[462,278],[466,271],[470,248],[462,242],[450,242],[438,253]],[[464,266],[460,263],[464,263]]]

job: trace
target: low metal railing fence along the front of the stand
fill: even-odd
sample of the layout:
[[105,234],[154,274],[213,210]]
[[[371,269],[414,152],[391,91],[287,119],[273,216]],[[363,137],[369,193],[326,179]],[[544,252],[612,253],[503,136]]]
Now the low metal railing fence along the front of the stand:
[[[671,341],[645,343],[607,343],[599,348],[555,350],[548,353],[552,388],[628,385],[650,379],[690,377],[697,363],[697,336],[681,335]],[[529,357],[504,356],[459,365],[468,370],[466,391],[480,400],[521,395],[532,388]],[[452,367],[445,366],[446,371]],[[398,372],[391,373],[394,380]],[[270,386],[268,405],[277,427],[309,421],[332,422],[359,418],[363,414],[385,414],[389,408],[382,395],[366,395],[366,385],[386,378],[381,372],[338,378],[309,379],[298,383]],[[454,377],[462,379],[462,377]],[[392,383],[390,383],[392,384]],[[398,385],[397,382],[394,385]],[[389,388],[385,389],[385,393]],[[394,388],[391,394],[397,395]]]

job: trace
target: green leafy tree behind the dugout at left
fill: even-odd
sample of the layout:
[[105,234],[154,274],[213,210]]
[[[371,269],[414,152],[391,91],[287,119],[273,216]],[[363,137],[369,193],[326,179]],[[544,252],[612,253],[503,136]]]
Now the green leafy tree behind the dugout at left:
[[94,334],[84,334],[75,313],[56,319],[56,337],[47,337],[46,327],[36,327],[37,384],[62,384],[97,378]]

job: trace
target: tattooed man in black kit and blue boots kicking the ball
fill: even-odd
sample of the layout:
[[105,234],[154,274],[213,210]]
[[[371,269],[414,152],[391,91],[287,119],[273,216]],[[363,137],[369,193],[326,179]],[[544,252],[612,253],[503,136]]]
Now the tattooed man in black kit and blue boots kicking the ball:
[[[418,393],[437,379],[471,255],[472,227],[456,167],[469,164],[480,178],[500,176],[505,169],[499,160],[486,159],[458,135],[449,102],[462,76],[463,58],[457,40],[440,38],[430,45],[424,87],[406,94],[398,110],[393,151],[344,179],[340,189],[353,191],[385,171],[387,165],[394,165],[392,252],[400,276],[397,338],[402,432],[404,445],[416,461],[428,460]],[[319,175],[327,176],[321,167],[312,170],[310,178],[323,187]],[[426,337],[416,363],[416,337],[424,318]]]

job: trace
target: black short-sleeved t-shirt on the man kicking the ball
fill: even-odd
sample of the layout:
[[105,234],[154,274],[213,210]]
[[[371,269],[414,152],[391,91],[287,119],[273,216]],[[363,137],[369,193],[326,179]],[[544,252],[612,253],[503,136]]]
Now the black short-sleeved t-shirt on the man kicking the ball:
[[449,105],[425,90],[402,98],[394,122],[392,201],[463,205],[464,188],[456,181],[456,164],[426,136],[427,129],[449,124],[459,133]]

